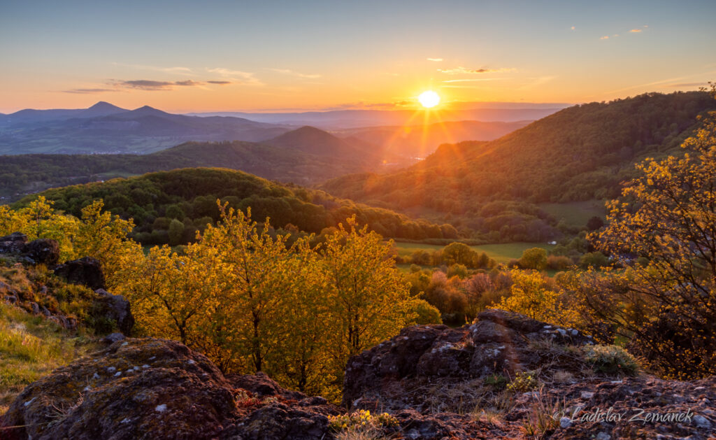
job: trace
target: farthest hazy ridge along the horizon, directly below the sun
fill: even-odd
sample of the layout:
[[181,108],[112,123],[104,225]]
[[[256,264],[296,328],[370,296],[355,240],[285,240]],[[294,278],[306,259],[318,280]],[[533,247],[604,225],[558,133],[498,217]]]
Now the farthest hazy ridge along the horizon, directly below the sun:
[[[500,104],[495,104],[500,105]],[[323,130],[342,130],[347,128],[376,127],[384,125],[430,125],[448,121],[480,120],[485,122],[518,122],[537,120],[556,113],[567,105],[551,107],[501,107],[460,108],[458,110],[332,110],[325,112],[303,113],[242,113],[215,112],[190,113],[194,116],[233,116],[247,118],[262,123],[283,125],[311,125]]]

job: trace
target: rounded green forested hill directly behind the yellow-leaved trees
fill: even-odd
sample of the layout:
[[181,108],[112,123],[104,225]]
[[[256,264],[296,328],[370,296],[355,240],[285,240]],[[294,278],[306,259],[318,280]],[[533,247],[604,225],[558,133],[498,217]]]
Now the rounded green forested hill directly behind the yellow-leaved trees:
[[[358,224],[383,236],[402,239],[455,239],[450,225],[413,220],[387,209],[337,199],[323,191],[267,181],[225,168],[185,168],[131,178],[54,188],[40,193],[54,208],[79,216],[84,206],[103,199],[105,208],[135,219],[134,236],[142,244],[182,244],[197,229],[219,218],[217,199],[236,209],[251,207],[253,219],[289,231],[320,233],[355,215]],[[37,195],[16,203],[25,206]],[[295,235],[295,234],[294,234]]]

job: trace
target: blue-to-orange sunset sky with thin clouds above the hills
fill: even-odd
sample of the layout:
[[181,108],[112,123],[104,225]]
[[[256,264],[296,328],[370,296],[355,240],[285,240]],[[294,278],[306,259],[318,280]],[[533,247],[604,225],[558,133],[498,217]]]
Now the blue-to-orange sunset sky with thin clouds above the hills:
[[0,0],[0,113],[612,100],[716,80],[716,1]]

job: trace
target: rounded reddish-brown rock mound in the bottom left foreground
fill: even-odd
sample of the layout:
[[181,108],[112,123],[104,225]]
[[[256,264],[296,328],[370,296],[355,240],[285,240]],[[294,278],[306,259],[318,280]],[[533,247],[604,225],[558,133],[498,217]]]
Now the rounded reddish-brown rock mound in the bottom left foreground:
[[180,343],[127,338],[27,386],[0,419],[0,426],[18,426],[1,431],[2,438],[333,438],[328,416],[341,413],[337,406],[311,402],[265,375],[238,382],[274,394],[264,401],[236,388]]

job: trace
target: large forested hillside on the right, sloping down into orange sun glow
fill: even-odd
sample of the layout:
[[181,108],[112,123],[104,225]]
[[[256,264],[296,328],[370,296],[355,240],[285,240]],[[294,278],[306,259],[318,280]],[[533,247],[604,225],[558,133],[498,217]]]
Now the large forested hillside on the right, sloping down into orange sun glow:
[[337,196],[392,209],[479,214],[487,201],[567,202],[616,196],[647,156],[678,153],[697,115],[716,109],[706,92],[649,93],[576,105],[490,142],[443,145],[387,175],[324,183]]

